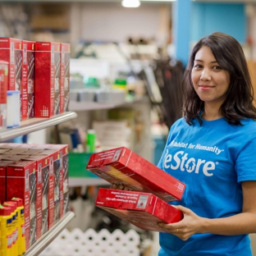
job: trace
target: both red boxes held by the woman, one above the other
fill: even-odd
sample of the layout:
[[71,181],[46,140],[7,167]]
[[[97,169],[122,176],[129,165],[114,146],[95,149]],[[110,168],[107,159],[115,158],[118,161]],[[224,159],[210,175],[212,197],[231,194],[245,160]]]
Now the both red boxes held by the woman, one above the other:
[[178,222],[181,211],[167,203],[181,200],[185,184],[126,147],[94,153],[86,169],[124,190],[99,189],[100,208],[149,231],[158,223]]

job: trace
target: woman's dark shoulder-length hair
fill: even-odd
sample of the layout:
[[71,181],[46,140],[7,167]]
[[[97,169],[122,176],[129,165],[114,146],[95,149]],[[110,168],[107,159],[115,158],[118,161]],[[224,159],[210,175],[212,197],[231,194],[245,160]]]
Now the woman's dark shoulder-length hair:
[[203,45],[211,48],[218,64],[223,70],[229,72],[231,77],[226,99],[220,109],[223,117],[228,123],[234,125],[241,125],[240,120],[245,118],[256,120],[254,90],[243,49],[231,35],[216,32],[200,39],[190,54],[190,60],[182,80],[185,121],[191,125],[193,119],[197,119],[202,124],[199,113],[203,111],[204,103],[194,90],[191,71],[194,66],[195,54]]

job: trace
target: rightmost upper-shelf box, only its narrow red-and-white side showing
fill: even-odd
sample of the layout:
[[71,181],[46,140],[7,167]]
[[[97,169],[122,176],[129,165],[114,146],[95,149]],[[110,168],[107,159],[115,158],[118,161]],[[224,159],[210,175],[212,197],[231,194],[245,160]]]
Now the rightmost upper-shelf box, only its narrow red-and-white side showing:
[[71,44],[61,43],[60,113],[69,111]]

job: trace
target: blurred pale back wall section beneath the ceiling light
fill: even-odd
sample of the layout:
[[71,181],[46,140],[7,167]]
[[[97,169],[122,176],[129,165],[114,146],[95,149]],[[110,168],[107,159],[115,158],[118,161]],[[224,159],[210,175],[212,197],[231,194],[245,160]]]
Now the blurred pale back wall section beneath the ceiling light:
[[124,8],[121,4],[71,5],[71,43],[79,39],[101,42],[126,42],[135,39],[157,39],[170,34],[171,4],[142,4]]

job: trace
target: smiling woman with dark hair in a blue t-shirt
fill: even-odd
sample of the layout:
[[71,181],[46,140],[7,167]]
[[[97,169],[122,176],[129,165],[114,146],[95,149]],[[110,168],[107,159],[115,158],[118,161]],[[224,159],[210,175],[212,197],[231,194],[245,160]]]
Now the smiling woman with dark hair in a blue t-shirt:
[[159,224],[158,255],[250,256],[256,108],[240,43],[223,33],[200,39],[183,85],[184,118],[171,127],[158,167],[186,184],[181,201],[171,203],[184,218]]

